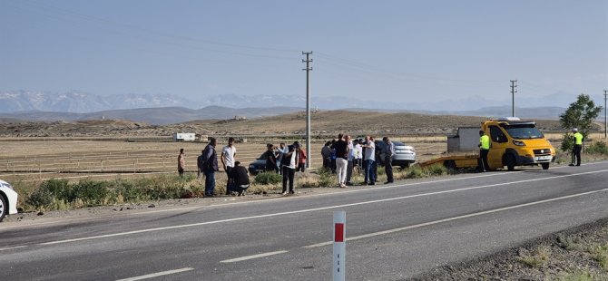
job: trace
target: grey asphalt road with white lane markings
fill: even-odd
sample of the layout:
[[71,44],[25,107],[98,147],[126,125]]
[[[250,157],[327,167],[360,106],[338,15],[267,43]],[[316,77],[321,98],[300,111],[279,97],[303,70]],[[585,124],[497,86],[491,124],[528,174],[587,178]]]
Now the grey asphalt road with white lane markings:
[[314,196],[0,225],[0,280],[400,280],[608,217],[608,162],[463,174]]

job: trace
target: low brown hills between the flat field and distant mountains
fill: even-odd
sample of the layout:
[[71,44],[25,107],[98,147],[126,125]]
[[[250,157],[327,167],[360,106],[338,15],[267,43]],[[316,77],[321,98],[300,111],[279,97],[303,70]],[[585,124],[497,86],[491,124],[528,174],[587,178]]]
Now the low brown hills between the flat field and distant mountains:
[[[477,126],[484,117],[387,113],[375,111],[318,111],[311,117],[312,134],[338,132],[351,135],[446,135],[459,126]],[[538,120],[544,131],[560,131],[558,121]],[[207,135],[279,135],[305,134],[306,114],[303,111],[247,120],[206,119],[169,125],[151,125],[124,120],[93,121],[9,121],[0,123],[5,137],[126,137],[171,136],[174,132],[195,132]]]

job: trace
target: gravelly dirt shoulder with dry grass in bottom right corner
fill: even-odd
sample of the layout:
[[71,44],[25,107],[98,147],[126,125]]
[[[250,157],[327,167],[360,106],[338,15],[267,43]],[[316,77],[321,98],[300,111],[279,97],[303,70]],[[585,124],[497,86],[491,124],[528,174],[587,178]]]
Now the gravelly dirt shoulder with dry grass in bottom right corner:
[[608,218],[534,238],[414,280],[608,280]]

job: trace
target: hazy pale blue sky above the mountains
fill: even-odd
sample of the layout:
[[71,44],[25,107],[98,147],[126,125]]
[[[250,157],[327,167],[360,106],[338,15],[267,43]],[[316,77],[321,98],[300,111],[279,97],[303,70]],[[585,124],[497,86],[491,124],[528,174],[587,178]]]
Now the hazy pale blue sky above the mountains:
[[302,51],[319,96],[597,95],[608,0],[0,0],[0,91],[304,95]]

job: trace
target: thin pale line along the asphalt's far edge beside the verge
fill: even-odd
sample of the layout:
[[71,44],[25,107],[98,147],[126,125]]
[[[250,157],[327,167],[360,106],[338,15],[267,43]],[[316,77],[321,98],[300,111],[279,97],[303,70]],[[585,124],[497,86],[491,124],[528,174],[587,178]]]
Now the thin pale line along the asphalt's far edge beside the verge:
[[[602,162],[593,162],[593,163],[583,163],[582,166],[605,164],[605,163],[608,163],[608,162],[602,161]],[[553,168],[553,170],[563,169],[563,168],[572,168],[572,167],[560,166],[560,167]],[[525,171],[528,171],[528,170],[519,170],[519,171],[515,171],[515,172],[512,171],[512,172],[508,172],[508,173],[507,172],[505,172],[505,173],[487,173],[487,174],[483,174],[483,175],[462,177],[462,178],[456,178],[456,179],[437,179],[437,180],[429,180],[429,181],[421,181],[421,182],[411,182],[411,183],[382,186],[382,187],[376,187],[376,188],[367,187],[365,189],[340,190],[340,192],[334,192],[334,193],[308,194],[307,197],[340,195],[340,194],[345,194],[345,193],[366,192],[366,191],[373,191],[373,190],[378,190],[378,189],[394,189],[394,188],[400,188],[400,187],[408,187],[408,186],[423,185],[423,184],[433,184],[433,183],[462,180],[462,179],[479,179],[479,178],[495,177],[495,176],[502,176],[502,175],[513,175],[515,173],[521,173],[521,172],[525,172]],[[133,212],[133,213],[126,213],[126,214],[124,214],[124,216],[138,216],[138,215],[148,215],[148,214],[162,213],[162,212],[176,212],[176,211],[196,209],[196,208],[210,208],[210,207],[223,207],[223,206],[232,206],[232,205],[241,205],[241,204],[266,203],[266,202],[271,202],[271,201],[275,201],[275,200],[283,200],[283,199],[286,199],[286,198],[279,197],[276,199],[264,199],[264,200],[255,200],[255,201],[211,204],[209,206],[194,206],[194,207],[167,208],[167,209],[158,209],[158,210],[145,210],[145,211],[137,211],[137,212]],[[287,199],[301,199],[301,197],[292,197],[292,198],[287,198]],[[68,218],[68,219],[63,219],[60,222],[58,222],[58,221],[39,222],[39,223],[31,223],[26,226],[15,225],[15,226],[10,226],[10,227],[5,227],[3,229],[37,227],[37,226],[43,226],[43,225],[48,225],[48,224],[68,223],[68,222],[80,221],[80,220],[91,220],[91,218]]]

